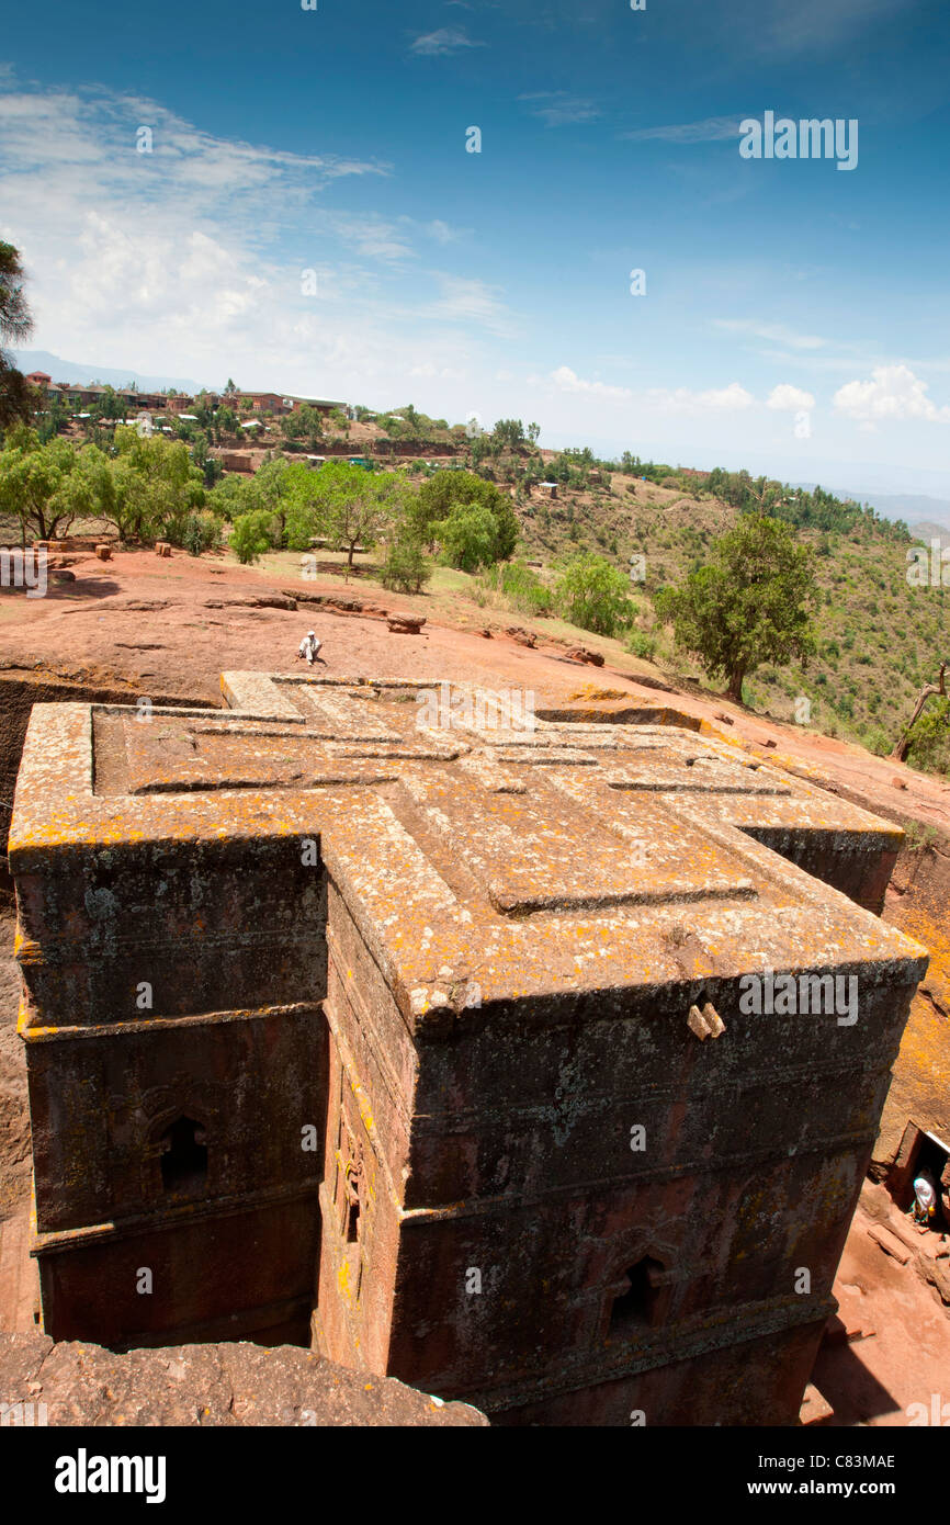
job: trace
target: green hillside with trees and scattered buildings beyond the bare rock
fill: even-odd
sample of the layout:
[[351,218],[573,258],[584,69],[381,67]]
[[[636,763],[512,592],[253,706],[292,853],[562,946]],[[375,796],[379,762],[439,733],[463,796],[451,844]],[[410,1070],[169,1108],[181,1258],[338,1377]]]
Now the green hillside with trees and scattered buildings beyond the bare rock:
[[[27,331],[18,256],[0,246],[0,340]],[[6,537],[98,523],[120,543],[226,547],[249,566],[323,546],[346,575],[369,557],[410,596],[445,567],[459,607],[560,621],[679,683],[881,755],[903,743],[912,766],[950,772],[950,697],[933,683],[950,657],[950,572],[915,578],[929,547],[866,505],[630,451],[540,450],[537,424],[450,425],[412,404],[265,415],[253,451],[206,395],[151,435],[122,412],[108,387],[81,419],[43,406],[0,352]],[[226,470],[235,444],[250,473]]]

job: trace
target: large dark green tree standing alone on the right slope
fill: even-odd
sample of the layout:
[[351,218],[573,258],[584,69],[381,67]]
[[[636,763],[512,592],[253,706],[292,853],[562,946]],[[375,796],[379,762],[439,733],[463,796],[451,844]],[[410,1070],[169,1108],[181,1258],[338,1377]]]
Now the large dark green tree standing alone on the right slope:
[[810,610],[816,605],[811,555],[791,531],[765,514],[749,514],[712,544],[712,561],[682,587],[663,589],[657,616],[672,624],[676,642],[723,677],[741,703],[743,680],[762,662],[805,663],[814,650]]

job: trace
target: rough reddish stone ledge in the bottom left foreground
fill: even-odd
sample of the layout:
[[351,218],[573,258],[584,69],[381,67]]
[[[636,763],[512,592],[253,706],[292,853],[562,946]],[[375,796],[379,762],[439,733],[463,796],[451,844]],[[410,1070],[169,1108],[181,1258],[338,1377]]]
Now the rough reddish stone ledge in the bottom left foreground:
[[[486,1426],[392,1377],[348,1371],[296,1345],[131,1350],[0,1334],[0,1403],[46,1405],[50,1426]],[[14,1414],[15,1418],[15,1414]],[[6,1423],[12,1423],[8,1418]]]

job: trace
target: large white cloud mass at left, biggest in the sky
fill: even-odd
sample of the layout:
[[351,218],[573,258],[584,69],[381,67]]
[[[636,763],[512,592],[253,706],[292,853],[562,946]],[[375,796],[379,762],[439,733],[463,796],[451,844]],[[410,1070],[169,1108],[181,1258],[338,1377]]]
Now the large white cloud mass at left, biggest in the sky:
[[[151,154],[136,151],[143,125]],[[0,92],[0,238],[27,270],[34,343],[93,368],[207,386],[230,372],[380,406],[406,401],[413,372],[418,406],[464,416],[453,389],[470,386],[471,345],[517,332],[503,293],[422,267],[465,229],[328,207],[331,180],[389,171],[310,142],[233,143],[102,90]]]

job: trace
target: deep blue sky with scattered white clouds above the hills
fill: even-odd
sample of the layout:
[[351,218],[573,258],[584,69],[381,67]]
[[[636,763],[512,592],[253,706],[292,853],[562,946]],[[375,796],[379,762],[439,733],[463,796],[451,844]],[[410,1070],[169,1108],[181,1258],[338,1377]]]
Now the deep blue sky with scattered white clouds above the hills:
[[23,8],[0,236],[93,368],[947,494],[948,64],[936,0]]

